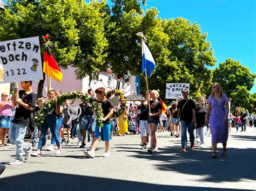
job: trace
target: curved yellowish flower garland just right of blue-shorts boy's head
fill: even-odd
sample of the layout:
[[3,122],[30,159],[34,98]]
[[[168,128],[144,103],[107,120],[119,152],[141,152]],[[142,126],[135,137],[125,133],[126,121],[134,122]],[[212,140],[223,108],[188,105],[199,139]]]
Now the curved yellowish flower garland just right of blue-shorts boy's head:
[[113,118],[117,118],[120,115],[124,114],[124,110],[126,109],[127,98],[126,96],[124,96],[124,93],[118,89],[112,89],[107,91],[106,98],[110,98],[112,95],[117,96],[120,101],[120,109],[117,112],[113,113]]

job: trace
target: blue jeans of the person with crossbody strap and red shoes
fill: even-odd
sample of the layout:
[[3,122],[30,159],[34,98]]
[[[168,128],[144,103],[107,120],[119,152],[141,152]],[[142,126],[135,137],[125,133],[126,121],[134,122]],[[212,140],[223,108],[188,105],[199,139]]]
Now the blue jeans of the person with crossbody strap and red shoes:
[[194,125],[186,121],[181,121],[181,146],[187,146],[187,131],[190,134],[190,143],[194,143]]

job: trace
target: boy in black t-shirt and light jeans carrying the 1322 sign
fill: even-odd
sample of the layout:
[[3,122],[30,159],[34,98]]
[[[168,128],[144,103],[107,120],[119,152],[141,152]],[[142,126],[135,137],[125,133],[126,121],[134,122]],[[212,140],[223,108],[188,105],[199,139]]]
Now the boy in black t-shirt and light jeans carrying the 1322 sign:
[[[9,130],[9,139],[16,145],[16,156],[10,165],[23,163],[23,150],[25,150],[25,160],[28,160],[31,155],[32,147],[23,143],[26,127],[29,125],[29,117],[36,105],[36,95],[32,91],[31,84],[32,81],[21,82],[21,87],[24,90],[18,91],[18,87],[15,87],[14,96],[12,96],[12,103],[17,107]],[[16,97],[17,93],[19,98]]]

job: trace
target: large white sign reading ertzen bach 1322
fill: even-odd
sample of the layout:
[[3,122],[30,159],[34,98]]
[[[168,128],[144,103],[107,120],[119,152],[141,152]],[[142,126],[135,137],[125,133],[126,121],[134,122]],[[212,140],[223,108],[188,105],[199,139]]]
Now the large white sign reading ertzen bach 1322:
[[0,64],[4,67],[4,81],[0,83],[42,80],[39,38],[0,42]]

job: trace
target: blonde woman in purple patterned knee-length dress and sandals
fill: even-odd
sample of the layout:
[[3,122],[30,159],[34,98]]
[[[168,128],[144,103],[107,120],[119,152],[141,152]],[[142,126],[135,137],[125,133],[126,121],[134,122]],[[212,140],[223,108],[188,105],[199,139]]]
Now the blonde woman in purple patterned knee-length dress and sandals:
[[219,83],[212,84],[212,95],[207,99],[208,107],[205,123],[210,123],[212,134],[212,158],[217,157],[217,143],[222,143],[222,156],[226,155],[226,146],[228,139],[228,123],[227,117],[229,113],[228,98],[223,93]]

